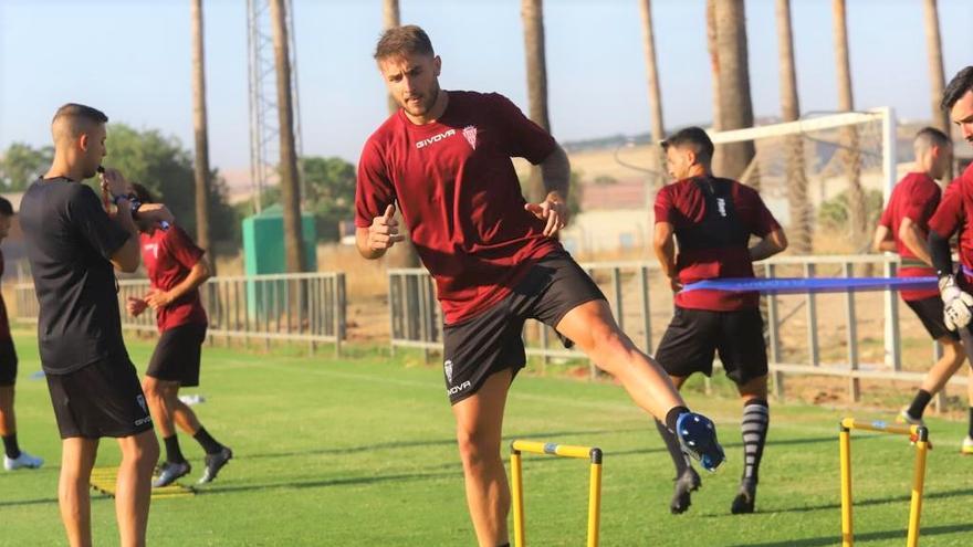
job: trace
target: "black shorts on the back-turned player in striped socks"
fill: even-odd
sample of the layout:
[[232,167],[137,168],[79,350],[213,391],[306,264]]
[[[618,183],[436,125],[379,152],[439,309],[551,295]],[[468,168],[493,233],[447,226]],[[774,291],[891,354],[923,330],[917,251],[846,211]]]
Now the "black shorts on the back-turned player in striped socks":
[[719,351],[726,376],[743,385],[767,374],[763,330],[760,309],[711,312],[677,306],[656,360],[670,376],[712,376],[713,356]]

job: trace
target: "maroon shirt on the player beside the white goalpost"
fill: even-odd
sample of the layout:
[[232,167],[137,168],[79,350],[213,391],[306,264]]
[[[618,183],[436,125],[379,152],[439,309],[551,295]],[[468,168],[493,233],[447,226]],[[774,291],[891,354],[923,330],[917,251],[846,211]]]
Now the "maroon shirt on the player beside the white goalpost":
[[[889,204],[882,212],[879,225],[883,225],[892,232],[896,239],[896,252],[902,257],[902,266],[899,269],[899,277],[922,277],[935,275],[932,266],[927,266],[916,257],[916,253],[909,250],[899,239],[899,227],[902,219],[908,218],[923,233],[929,234],[929,219],[939,206],[942,191],[935,180],[924,172],[910,172],[896,185],[889,197]],[[939,291],[927,288],[919,291],[900,291],[903,301],[921,301],[938,297]]]

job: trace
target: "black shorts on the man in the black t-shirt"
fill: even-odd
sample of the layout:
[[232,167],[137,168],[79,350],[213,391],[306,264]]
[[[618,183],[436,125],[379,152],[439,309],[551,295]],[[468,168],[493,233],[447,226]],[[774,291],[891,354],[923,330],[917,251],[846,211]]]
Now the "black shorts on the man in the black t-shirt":
[[61,439],[132,436],[153,428],[138,375],[127,357],[46,378]]

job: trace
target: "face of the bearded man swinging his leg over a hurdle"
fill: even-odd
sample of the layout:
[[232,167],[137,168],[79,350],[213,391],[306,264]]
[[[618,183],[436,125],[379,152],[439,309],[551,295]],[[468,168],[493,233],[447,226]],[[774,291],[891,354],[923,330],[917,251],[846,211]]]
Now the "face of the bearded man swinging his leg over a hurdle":
[[414,117],[426,116],[436,104],[440,66],[438,55],[397,55],[378,62],[388,92]]

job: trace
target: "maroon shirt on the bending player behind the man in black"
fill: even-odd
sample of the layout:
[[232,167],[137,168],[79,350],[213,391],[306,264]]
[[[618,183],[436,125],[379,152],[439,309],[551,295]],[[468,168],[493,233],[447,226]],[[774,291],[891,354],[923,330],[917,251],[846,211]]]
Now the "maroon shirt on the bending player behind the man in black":
[[[148,272],[151,287],[170,291],[182,283],[192,266],[205,254],[202,249],[189,238],[181,228],[156,230],[151,235],[140,233],[142,261]],[[189,324],[206,324],[206,309],[199,301],[199,291],[193,288],[164,308],[156,311],[159,332]]]

